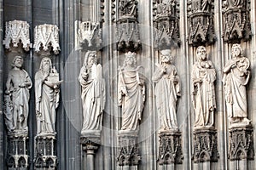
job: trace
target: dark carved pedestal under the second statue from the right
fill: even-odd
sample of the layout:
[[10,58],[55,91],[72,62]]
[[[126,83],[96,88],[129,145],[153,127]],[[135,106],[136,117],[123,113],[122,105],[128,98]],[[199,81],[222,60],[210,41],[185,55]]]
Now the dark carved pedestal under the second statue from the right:
[[196,129],[194,131],[195,163],[218,161],[217,132],[215,129]]

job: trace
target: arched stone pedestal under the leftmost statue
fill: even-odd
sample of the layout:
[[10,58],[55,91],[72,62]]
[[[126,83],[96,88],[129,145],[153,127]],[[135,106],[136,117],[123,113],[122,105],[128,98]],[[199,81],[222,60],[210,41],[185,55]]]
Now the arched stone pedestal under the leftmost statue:
[[[28,163],[28,156],[26,150],[26,133],[20,134],[9,134],[8,139],[8,158],[7,158],[7,165],[9,169],[12,170],[25,170],[27,169]],[[2,166],[0,166],[2,167]]]

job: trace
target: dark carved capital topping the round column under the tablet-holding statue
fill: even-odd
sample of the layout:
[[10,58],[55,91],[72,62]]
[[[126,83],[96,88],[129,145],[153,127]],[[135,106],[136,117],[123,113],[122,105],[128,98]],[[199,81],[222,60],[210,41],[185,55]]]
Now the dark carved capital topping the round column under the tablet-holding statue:
[[101,145],[101,137],[82,136],[80,137],[80,144],[82,144],[82,148],[87,154],[95,154],[96,150],[98,150],[99,146]]

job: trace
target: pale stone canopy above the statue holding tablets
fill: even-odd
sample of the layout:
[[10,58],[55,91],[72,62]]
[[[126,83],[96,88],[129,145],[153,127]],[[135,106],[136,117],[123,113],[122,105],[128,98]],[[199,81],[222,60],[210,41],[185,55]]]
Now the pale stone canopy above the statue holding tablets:
[[102,29],[99,22],[75,21],[76,26],[76,48],[84,50],[101,48]]

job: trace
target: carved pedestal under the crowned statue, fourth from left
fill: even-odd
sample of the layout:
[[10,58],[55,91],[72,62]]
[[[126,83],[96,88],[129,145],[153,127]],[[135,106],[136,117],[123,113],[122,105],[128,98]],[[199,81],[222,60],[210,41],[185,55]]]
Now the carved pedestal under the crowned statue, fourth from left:
[[137,144],[137,131],[119,131],[118,165],[122,169],[137,169],[142,160]]

